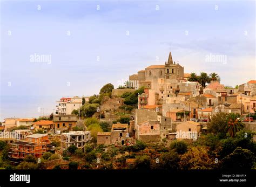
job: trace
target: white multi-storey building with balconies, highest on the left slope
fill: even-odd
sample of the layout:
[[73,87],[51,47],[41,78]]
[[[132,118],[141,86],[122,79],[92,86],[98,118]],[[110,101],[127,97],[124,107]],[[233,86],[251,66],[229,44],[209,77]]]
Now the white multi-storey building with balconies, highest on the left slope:
[[59,115],[70,115],[73,110],[77,110],[82,106],[83,98],[74,96],[73,98],[60,98],[56,101],[56,114]]

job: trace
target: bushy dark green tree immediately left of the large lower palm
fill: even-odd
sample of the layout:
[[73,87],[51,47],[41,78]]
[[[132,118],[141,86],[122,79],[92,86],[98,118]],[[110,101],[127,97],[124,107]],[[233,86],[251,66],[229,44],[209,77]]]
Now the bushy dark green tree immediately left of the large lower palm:
[[222,112],[214,115],[211,121],[207,123],[208,132],[218,135],[222,138],[225,137],[226,136],[226,132],[225,132],[226,119],[227,119],[226,113]]

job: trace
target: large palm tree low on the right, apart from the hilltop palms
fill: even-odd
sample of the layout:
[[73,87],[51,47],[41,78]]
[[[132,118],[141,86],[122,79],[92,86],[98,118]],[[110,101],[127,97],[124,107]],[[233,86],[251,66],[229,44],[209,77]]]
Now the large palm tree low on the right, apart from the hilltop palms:
[[239,114],[230,113],[227,115],[226,133],[229,133],[231,137],[234,137],[235,133],[244,128]]

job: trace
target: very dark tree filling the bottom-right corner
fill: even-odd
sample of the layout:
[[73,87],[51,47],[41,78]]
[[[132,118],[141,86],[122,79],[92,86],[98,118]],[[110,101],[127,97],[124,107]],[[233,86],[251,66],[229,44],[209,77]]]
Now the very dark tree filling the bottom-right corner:
[[237,147],[232,154],[223,159],[222,169],[252,169],[255,161],[252,151]]

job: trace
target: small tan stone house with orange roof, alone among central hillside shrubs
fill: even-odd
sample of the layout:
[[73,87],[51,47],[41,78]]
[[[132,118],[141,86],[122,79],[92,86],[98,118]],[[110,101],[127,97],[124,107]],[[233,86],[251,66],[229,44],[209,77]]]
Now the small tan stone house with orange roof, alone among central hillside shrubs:
[[112,124],[111,143],[125,144],[128,134],[128,124],[116,123]]

